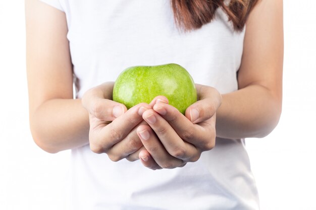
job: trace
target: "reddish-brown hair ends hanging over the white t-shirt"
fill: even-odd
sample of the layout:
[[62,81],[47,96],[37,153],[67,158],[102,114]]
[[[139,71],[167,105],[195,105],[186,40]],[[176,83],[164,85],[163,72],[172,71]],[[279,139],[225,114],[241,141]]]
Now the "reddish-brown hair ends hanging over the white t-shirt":
[[224,0],[171,0],[171,4],[177,26],[185,31],[201,28],[212,21],[218,8],[227,14],[234,30],[241,31],[257,1],[231,0],[226,5]]

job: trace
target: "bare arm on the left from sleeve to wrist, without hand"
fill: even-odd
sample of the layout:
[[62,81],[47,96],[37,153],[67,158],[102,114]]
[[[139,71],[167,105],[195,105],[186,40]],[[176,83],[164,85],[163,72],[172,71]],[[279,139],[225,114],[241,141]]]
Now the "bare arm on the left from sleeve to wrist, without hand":
[[65,13],[25,1],[30,128],[35,143],[56,153],[88,144],[89,119],[73,99]]

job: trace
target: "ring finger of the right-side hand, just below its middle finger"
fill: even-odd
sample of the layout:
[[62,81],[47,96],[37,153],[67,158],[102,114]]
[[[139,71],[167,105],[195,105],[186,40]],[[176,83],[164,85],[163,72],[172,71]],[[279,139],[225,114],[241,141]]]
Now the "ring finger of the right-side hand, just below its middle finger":
[[[159,141],[159,139],[156,137],[156,135],[148,125],[139,126],[137,128],[137,134],[152,159],[160,167],[171,169],[183,164],[182,160],[171,156],[166,151],[165,147],[162,145],[162,143]],[[142,160],[145,161],[145,158],[143,157]]]

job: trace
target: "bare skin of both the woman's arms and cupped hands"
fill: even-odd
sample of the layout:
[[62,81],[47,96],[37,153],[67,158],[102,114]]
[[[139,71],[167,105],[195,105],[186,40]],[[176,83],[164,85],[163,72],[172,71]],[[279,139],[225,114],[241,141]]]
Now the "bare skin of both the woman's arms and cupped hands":
[[150,169],[175,168],[198,160],[215,146],[216,136],[264,137],[279,121],[282,1],[259,1],[247,20],[239,90],[220,95],[197,85],[199,101],[185,116],[163,96],[127,111],[111,100],[111,82],[73,99],[65,13],[36,0],[25,3],[30,127],[35,143],[49,153],[90,144],[113,161],[140,159]]

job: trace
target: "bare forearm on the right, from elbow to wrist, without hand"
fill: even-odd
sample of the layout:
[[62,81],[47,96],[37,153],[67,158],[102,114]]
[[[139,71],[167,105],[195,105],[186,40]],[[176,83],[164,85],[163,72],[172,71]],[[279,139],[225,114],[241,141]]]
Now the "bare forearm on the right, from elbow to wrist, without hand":
[[259,85],[223,94],[222,105],[217,111],[217,136],[264,137],[277,125],[281,106],[280,98]]

